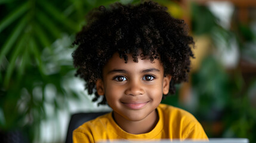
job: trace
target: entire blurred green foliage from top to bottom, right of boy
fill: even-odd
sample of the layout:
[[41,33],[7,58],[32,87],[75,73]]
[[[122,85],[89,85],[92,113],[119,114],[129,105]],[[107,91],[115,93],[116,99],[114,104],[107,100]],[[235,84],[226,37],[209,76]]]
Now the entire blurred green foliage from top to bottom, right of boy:
[[[248,138],[256,142],[256,77],[245,81],[239,64],[225,67],[221,58],[221,44],[232,49],[238,46],[238,62],[256,63],[256,32],[249,24],[232,21],[231,29],[218,24],[218,18],[208,7],[192,4],[192,32],[209,35],[215,50],[205,57],[199,71],[192,73],[191,105],[180,105],[193,114],[205,126],[209,138]],[[216,52],[217,51],[217,52]],[[224,50],[225,51],[225,50]],[[232,54],[227,52],[227,54]]]

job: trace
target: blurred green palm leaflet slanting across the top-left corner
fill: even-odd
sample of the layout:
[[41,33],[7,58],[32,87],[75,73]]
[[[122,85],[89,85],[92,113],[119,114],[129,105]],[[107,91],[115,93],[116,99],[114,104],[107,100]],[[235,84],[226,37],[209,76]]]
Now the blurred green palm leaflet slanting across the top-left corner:
[[27,1],[23,5],[18,7],[15,11],[13,11],[11,14],[8,14],[4,18],[4,20],[0,22],[0,33],[2,32],[2,30],[5,29],[5,27],[13,23],[13,21],[15,21],[18,17],[20,17],[20,15],[22,15],[25,11],[27,11],[27,9],[29,8],[28,6],[29,6],[29,2]]

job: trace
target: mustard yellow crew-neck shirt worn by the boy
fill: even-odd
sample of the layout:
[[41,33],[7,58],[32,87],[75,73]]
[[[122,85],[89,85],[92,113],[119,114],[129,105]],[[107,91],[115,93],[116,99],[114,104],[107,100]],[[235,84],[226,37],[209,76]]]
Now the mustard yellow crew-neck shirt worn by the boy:
[[156,139],[207,139],[195,117],[185,110],[160,104],[159,121],[148,133],[134,135],[122,130],[113,120],[112,113],[88,121],[73,131],[73,142],[98,142],[124,139],[129,141],[153,141]]

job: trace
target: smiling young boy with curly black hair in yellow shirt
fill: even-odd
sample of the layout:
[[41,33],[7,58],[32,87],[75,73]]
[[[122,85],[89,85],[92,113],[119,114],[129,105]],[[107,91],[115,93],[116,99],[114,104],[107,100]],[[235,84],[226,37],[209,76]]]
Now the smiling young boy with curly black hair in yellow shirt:
[[116,3],[91,13],[76,36],[73,62],[93,101],[113,111],[84,123],[73,142],[124,139],[208,139],[201,124],[187,111],[161,104],[175,83],[187,80],[190,46],[183,20],[155,2]]

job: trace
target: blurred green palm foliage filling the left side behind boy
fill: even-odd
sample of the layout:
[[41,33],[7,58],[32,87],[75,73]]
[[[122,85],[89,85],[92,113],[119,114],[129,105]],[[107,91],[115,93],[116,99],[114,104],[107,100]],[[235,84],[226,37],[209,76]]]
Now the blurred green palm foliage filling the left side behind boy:
[[65,88],[75,73],[70,45],[88,11],[115,1],[0,1],[0,132],[37,140],[41,121],[78,97]]

